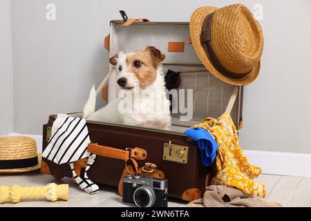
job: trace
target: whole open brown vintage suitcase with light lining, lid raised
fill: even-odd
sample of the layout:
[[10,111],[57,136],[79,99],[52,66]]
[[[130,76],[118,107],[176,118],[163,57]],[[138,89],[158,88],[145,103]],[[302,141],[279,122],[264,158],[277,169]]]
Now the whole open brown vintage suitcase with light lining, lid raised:
[[[182,133],[187,127],[202,122],[205,117],[219,117],[232,96],[235,86],[219,81],[202,68],[194,48],[185,45],[183,52],[171,52],[171,42],[185,42],[189,38],[189,23],[186,22],[135,22],[131,26],[122,28],[123,21],[111,21],[111,31],[106,37],[106,48],[110,49],[110,54],[114,55],[119,50],[131,51],[141,49],[142,46],[153,45],[160,48],[167,56],[164,68],[180,68],[182,82],[180,88],[192,87],[196,91],[196,110],[194,118],[189,122],[180,122],[180,115],[172,115],[172,130],[160,131],[149,128],[139,128],[135,126],[108,124],[87,121],[91,142],[113,148],[139,147],[147,151],[146,160],[138,160],[139,166],[144,166],[146,162],[158,165],[160,171],[164,171],[169,180],[169,196],[173,198],[183,198],[184,200],[194,200],[198,191],[205,191],[206,183],[211,177],[210,168],[203,166],[200,162],[200,151],[196,143]],[[129,37],[139,35],[139,41]],[[145,36],[142,36],[145,35]],[[168,40],[169,39],[169,40]],[[126,44],[124,43],[126,41]],[[169,48],[167,46],[169,45]],[[191,74],[196,72],[196,74]],[[198,73],[200,72],[200,73]],[[113,86],[113,77],[109,79],[109,88],[104,88],[103,97],[111,101],[115,98],[116,88]],[[208,83],[207,83],[208,82]],[[205,84],[208,88],[205,89]],[[243,87],[238,87],[236,102],[232,104],[232,119],[237,128],[242,124],[242,103]],[[204,101],[207,101],[209,107]],[[73,114],[81,116],[81,113]],[[50,115],[48,123],[43,126],[43,151],[46,148],[50,137],[51,128],[56,115]],[[169,155],[172,148],[173,154]],[[86,162],[77,162],[76,173],[84,174]],[[115,160],[108,157],[98,156],[88,177],[98,184],[117,186],[122,172],[124,171],[124,161]],[[57,165],[49,160],[43,159],[41,166],[42,173],[50,173],[56,178],[72,177],[68,164]],[[191,190],[191,191],[188,191]],[[189,197],[185,193],[188,193]],[[191,194],[193,196],[191,197]]]

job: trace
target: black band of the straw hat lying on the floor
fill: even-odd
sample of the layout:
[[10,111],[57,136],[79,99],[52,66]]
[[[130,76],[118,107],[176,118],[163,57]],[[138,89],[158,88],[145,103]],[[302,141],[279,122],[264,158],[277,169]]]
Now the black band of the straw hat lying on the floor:
[[38,157],[21,160],[0,160],[0,169],[21,169],[38,164]]

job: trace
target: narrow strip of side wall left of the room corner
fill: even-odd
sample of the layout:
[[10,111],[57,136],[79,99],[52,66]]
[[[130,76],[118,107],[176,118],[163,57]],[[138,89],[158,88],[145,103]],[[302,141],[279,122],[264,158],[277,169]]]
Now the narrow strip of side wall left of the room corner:
[[0,135],[13,131],[13,72],[10,0],[0,1]]

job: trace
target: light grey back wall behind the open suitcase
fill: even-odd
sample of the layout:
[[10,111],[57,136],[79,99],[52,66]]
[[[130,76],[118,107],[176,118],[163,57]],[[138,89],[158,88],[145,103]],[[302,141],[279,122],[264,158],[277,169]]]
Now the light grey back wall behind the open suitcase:
[[[81,111],[93,82],[106,72],[109,20],[189,21],[199,6],[263,4],[261,75],[245,88],[245,149],[311,153],[311,1],[12,0],[15,131],[41,133],[51,113]],[[46,21],[55,3],[56,21]],[[97,83],[98,84],[98,83]],[[99,104],[102,105],[102,104]]]

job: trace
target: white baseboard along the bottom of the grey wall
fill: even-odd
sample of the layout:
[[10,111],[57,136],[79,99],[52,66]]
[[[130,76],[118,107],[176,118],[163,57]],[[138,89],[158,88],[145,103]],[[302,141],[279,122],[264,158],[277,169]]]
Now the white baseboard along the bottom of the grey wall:
[[[21,135],[10,133],[9,135]],[[38,152],[42,152],[42,135],[28,135],[37,142]],[[263,173],[311,177],[311,154],[272,151],[245,150],[250,164],[260,166]]]

